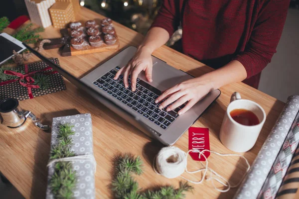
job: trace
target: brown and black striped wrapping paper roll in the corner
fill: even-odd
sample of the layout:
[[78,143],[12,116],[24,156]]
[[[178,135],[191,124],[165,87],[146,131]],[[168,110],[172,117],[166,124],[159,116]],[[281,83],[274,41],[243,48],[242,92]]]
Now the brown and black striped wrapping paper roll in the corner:
[[276,195],[276,199],[299,199],[299,148]]

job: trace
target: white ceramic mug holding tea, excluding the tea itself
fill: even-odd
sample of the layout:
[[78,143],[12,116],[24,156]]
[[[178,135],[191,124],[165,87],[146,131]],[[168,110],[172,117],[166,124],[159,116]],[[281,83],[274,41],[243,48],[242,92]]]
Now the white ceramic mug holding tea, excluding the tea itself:
[[[246,126],[236,122],[230,115],[232,110],[242,108],[252,111],[260,123]],[[220,129],[220,140],[222,144],[235,152],[249,151],[256,143],[261,129],[266,120],[265,110],[258,103],[251,100],[243,100],[238,92],[231,97]]]

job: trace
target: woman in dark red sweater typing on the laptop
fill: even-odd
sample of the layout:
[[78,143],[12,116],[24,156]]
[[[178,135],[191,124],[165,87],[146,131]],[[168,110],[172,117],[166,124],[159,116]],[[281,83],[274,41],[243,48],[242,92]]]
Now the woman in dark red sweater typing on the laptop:
[[132,91],[145,71],[151,79],[151,53],[165,44],[181,22],[182,52],[216,70],[182,82],[161,94],[159,108],[183,114],[214,89],[241,82],[257,88],[261,71],[271,61],[280,40],[290,0],[164,0],[149,32],[132,60],[116,74],[124,74]]

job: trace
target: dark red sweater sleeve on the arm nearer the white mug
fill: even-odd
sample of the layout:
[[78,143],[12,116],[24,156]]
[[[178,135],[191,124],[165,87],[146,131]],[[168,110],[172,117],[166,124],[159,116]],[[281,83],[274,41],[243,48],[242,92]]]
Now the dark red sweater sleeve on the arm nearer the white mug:
[[260,73],[276,53],[287,17],[290,0],[265,0],[244,52],[234,60],[243,64],[247,78]]

